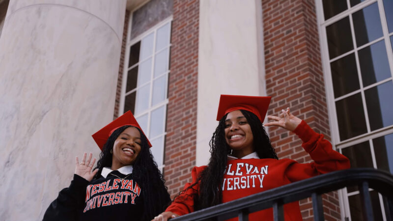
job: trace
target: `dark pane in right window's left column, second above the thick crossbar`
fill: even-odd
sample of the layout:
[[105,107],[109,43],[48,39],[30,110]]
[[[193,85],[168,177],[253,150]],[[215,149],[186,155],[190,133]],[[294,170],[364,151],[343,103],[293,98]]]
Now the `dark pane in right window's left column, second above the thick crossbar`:
[[342,57],[330,64],[335,98],[360,88],[355,54]]

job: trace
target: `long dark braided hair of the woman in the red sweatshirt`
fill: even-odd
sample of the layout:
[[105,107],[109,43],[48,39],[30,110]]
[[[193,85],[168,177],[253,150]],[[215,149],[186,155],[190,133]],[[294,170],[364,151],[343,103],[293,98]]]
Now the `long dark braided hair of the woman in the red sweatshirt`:
[[[253,146],[258,157],[261,159],[278,159],[278,156],[270,143],[269,136],[267,135],[259,118],[250,111],[240,111],[246,117],[253,132]],[[221,118],[219,125],[209,142],[211,153],[209,164],[201,172],[197,182],[188,188],[193,188],[200,181],[199,194],[193,196],[195,211],[218,205],[222,203],[223,200],[222,185],[224,172],[227,163],[227,155],[231,153],[231,149],[225,141],[226,115],[227,114]],[[176,200],[176,202],[179,202],[180,200],[181,199]]]

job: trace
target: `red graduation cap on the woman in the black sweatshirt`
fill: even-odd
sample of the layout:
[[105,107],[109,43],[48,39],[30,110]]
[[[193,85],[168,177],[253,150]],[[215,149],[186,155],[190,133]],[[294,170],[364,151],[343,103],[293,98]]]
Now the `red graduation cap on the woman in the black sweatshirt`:
[[[108,138],[111,136],[113,131],[115,131],[119,127],[122,127],[125,125],[137,127],[143,133],[142,128],[140,128],[134,115],[131,113],[131,111],[127,111],[123,115],[117,117],[117,119],[113,120],[107,126],[103,127],[101,130],[97,131],[95,134],[91,135],[91,137],[93,137],[94,141],[97,143],[97,145],[102,150],[102,148],[104,148],[105,143],[107,142]],[[143,135],[144,135],[144,133],[143,133]],[[147,137],[146,137],[146,139],[147,139]],[[149,147],[151,147],[151,143],[148,139],[147,139],[147,144],[149,145]]]

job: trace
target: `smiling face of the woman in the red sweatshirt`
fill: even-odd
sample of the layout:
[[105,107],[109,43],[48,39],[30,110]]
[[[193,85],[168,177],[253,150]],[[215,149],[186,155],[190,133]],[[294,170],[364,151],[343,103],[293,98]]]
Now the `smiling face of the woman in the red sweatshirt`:
[[226,115],[225,140],[234,157],[242,158],[254,152],[253,131],[241,111],[232,111]]

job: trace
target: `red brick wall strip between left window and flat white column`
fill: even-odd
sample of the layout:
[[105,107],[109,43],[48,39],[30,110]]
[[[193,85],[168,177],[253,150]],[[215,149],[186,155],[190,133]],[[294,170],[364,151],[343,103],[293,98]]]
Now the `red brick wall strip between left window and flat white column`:
[[198,27],[199,0],[173,0],[164,169],[172,197],[195,166]]

